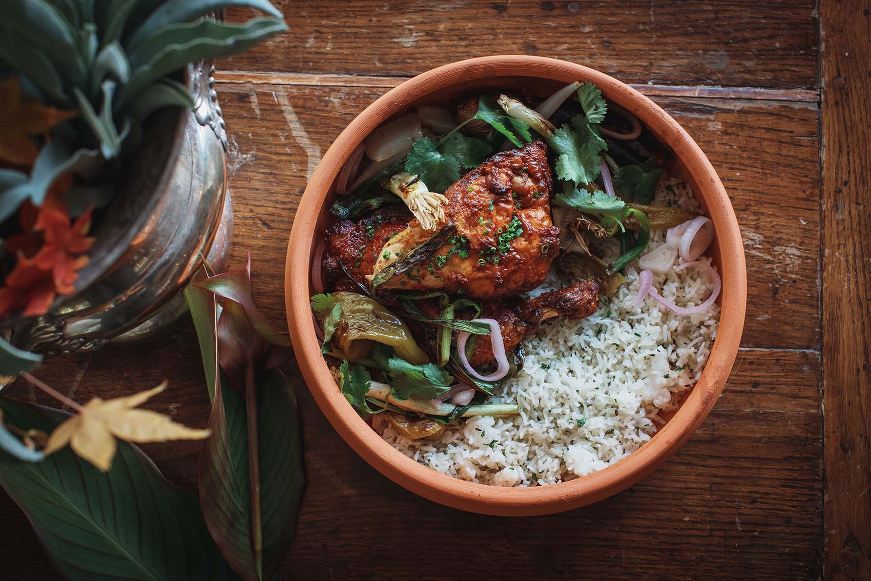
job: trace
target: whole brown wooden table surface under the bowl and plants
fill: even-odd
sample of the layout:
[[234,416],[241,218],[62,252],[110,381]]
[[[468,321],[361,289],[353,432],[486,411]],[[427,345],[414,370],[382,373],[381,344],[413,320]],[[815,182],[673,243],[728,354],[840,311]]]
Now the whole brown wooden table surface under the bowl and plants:
[[[252,252],[273,325],[285,327],[294,210],[331,141],[403,79],[487,54],[590,65],[663,106],[726,185],[749,279],[741,350],[699,431],[638,485],[555,516],[476,516],[400,488],[341,441],[288,367],[309,478],[292,578],[871,578],[867,0],[276,4],[291,31],[218,74],[233,263]],[[79,401],[167,378],[151,407],[206,422],[188,321],[152,344],[51,360],[38,375]],[[12,390],[34,396],[21,382]],[[145,450],[195,489],[198,448]],[[5,496],[0,522],[0,578],[57,578]]]

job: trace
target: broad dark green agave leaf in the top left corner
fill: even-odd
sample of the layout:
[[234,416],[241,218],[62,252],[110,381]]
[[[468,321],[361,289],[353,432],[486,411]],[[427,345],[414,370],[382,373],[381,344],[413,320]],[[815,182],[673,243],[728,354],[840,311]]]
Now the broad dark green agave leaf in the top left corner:
[[[0,36],[17,31],[28,48],[43,51],[70,85],[84,82],[86,69],[72,24],[45,0],[4,0]],[[15,61],[12,61],[15,62]]]

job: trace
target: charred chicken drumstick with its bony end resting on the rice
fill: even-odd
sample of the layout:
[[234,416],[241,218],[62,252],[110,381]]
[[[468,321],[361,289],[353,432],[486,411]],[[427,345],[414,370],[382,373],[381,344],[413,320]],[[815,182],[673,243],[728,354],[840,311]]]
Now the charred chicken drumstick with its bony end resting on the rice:
[[[564,289],[545,292],[535,298],[484,303],[481,317],[498,321],[505,351],[510,352],[524,338],[537,332],[542,321],[555,317],[589,317],[597,308],[598,284],[584,280]],[[469,364],[482,366],[492,360],[490,337],[479,336]]]

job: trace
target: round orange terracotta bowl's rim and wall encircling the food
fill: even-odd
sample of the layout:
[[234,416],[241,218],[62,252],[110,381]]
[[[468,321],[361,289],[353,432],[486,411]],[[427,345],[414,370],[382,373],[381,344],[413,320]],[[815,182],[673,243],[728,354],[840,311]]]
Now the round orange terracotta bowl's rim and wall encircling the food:
[[[672,149],[679,171],[714,223],[716,239],[710,254],[723,280],[718,302],[719,331],[699,382],[650,441],[592,475],[570,482],[531,488],[501,488],[463,482],[422,466],[381,440],[342,396],[321,356],[308,298],[315,242],[331,221],[334,181],[342,164],[361,140],[385,120],[404,114],[421,102],[444,102],[450,95],[483,87],[525,85],[542,97],[571,81],[591,81],[605,99],[625,107]],[[677,452],[711,411],[738,352],[746,307],[746,266],[738,222],[726,190],[696,142],[652,100],[617,79],[582,65],[552,58],[498,56],[471,58],[424,72],[388,91],[368,106],[339,135],[317,167],[294,219],[285,267],[287,325],[296,359],[308,388],[330,423],[351,448],[381,474],[408,490],[457,509],[491,515],[540,515],[597,502],[649,475]]]

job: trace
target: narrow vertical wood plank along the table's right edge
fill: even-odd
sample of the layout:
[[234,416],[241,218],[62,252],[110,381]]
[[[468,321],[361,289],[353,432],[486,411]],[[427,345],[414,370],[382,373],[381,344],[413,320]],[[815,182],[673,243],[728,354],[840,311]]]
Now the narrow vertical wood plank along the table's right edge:
[[871,6],[820,3],[826,577],[871,578]]

